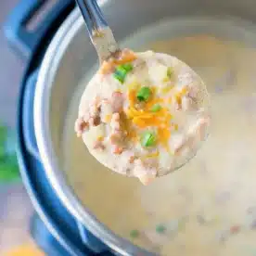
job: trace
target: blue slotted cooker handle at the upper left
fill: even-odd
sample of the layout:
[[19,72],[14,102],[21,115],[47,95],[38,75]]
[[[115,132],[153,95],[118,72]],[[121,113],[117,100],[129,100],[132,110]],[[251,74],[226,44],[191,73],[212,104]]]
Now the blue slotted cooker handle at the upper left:
[[[47,31],[74,6],[73,0],[20,0],[4,25],[6,38],[21,58],[29,58]],[[47,38],[45,38],[46,40]]]

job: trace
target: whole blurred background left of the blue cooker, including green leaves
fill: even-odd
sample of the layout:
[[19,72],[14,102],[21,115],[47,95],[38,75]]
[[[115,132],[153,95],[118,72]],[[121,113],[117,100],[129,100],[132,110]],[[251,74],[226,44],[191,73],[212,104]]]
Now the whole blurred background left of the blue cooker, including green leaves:
[[[29,227],[32,205],[19,178],[15,122],[19,84],[25,63],[9,48],[3,31],[19,0],[0,1],[0,255],[37,255]],[[41,255],[41,253],[40,253]]]

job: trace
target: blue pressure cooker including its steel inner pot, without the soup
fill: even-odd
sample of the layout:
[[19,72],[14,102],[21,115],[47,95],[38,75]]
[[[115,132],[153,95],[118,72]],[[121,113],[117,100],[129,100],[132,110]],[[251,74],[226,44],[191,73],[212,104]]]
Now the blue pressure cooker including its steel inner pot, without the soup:
[[[20,87],[17,127],[20,173],[39,216],[32,221],[32,235],[49,255],[151,255],[98,222],[58,167],[59,131],[67,102],[84,70],[96,63],[96,52],[73,0],[55,1],[30,29],[29,20],[45,2],[21,1],[6,22],[11,45],[28,63]],[[253,0],[105,0],[99,4],[118,41],[170,17],[231,16],[256,22]]]

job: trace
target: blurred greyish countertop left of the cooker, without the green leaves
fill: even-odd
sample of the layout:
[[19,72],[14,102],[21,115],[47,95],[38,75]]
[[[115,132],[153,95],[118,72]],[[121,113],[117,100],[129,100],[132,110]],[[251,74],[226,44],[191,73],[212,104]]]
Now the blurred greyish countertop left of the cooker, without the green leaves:
[[[18,2],[0,1],[0,122],[11,129],[14,129],[16,123],[19,83],[25,63],[9,48],[2,24]],[[0,184],[0,204],[0,255],[6,255],[6,250],[32,243],[29,222],[33,210],[21,181]],[[20,253],[19,250],[19,253],[11,255],[23,255]]]

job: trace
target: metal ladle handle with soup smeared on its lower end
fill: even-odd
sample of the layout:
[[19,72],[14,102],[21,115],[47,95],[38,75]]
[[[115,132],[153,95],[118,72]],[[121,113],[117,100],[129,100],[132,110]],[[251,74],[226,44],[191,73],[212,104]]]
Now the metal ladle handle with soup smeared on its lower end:
[[82,12],[91,41],[96,47],[99,61],[102,63],[120,51],[119,45],[96,0],[76,0],[76,3]]

